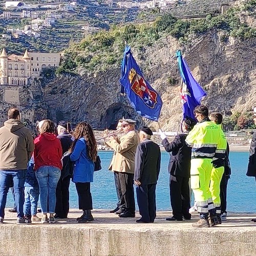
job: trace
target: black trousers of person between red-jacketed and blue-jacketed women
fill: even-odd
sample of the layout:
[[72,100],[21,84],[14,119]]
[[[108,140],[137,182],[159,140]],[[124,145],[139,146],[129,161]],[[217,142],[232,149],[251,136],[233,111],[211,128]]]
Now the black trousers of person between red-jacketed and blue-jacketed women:
[[60,218],[67,218],[69,213],[69,185],[70,176],[59,179],[56,187],[55,213]]

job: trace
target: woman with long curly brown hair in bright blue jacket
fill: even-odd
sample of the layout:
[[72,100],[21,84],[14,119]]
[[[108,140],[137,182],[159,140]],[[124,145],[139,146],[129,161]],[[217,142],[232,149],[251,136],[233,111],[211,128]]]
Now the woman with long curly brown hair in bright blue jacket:
[[81,122],[74,131],[74,141],[71,145],[70,155],[74,164],[72,181],[76,185],[79,209],[83,210],[79,223],[93,221],[91,210],[93,208],[91,182],[93,182],[94,162],[97,157],[97,143],[92,127],[87,122]]

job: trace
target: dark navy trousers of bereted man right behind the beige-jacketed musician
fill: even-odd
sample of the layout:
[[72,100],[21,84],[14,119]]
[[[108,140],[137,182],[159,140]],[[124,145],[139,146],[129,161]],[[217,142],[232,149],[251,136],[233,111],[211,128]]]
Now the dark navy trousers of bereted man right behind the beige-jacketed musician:
[[137,202],[141,219],[154,222],[156,219],[156,184],[136,186]]

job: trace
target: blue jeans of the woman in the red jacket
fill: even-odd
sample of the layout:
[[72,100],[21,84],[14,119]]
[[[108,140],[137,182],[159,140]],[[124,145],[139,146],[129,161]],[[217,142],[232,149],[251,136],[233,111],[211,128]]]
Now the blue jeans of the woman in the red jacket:
[[41,166],[36,170],[35,177],[39,184],[42,213],[54,214],[60,169],[54,166]]

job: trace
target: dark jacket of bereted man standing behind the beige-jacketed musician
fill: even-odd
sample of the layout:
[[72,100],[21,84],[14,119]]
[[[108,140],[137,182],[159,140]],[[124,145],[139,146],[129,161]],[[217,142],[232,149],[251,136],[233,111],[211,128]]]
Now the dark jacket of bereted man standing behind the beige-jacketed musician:
[[141,185],[156,184],[160,172],[161,152],[150,139],[142,141],[135,154],[134,180]]

